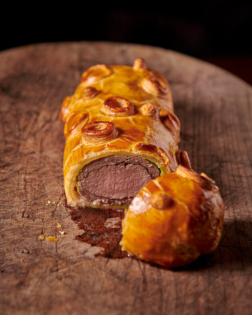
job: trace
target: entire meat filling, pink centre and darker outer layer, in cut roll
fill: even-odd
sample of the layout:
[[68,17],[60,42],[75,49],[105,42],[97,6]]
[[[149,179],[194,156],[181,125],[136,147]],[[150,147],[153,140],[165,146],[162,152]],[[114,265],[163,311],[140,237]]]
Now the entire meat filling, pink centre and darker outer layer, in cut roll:
[[84,166],[78,175],[78,191],[97,204],[129,204],[159,173],[155,164],[141,157],[111,155]]

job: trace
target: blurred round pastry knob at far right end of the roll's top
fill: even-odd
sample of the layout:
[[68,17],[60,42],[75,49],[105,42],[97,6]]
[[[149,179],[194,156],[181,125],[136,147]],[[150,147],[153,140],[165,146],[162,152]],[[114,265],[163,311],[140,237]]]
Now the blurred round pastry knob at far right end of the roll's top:
[[141,82],[141,87],[150,94],[155,96],[165,96],[169,92],[169,88],[165,79],[161,75],[152,74],[144,78]]

